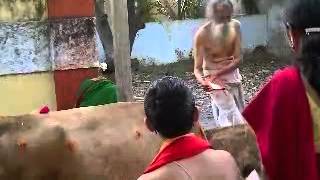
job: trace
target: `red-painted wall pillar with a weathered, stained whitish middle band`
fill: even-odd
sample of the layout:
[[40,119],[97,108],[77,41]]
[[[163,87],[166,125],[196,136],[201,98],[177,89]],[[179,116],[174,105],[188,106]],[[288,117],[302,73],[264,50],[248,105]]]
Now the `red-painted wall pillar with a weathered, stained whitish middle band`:
[[94,0],[48,0],[57,109],[73,108],[81,82],[98,75]]

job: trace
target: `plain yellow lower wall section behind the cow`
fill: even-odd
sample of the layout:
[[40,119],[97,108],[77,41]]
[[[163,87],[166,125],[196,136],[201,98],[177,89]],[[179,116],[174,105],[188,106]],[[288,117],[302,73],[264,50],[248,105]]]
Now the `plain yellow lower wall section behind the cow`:
[[0,76],[0,116],[27,114],[42,106],[56,110],[53,73]]

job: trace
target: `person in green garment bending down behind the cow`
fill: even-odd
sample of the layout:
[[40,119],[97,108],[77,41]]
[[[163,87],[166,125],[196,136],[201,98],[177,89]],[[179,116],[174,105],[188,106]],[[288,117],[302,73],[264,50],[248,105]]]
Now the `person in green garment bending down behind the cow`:
[[[88,107],[118,102],[117,86],[113,83],[112,72],[106,63],[100,64],[100,77],[84,80],[77,94],[75,107]],[[107,76],[110,78],[108,79]]]

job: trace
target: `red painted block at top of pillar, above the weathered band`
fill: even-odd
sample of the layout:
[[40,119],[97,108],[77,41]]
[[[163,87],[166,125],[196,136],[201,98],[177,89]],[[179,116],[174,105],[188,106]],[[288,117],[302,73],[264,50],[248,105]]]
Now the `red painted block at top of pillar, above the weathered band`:
[[92,17],[95,0],[48,0],[49,18]]

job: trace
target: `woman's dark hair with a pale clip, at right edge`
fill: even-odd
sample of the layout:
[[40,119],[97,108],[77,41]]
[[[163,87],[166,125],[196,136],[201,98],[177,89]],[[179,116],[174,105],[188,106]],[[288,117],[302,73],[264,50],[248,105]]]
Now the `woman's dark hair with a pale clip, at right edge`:
[[295,63],[320,95],[320,29],[308,33],[310,28],[320,28],[320,0],[291,0],[285,21],[302,34]]

